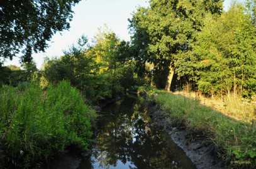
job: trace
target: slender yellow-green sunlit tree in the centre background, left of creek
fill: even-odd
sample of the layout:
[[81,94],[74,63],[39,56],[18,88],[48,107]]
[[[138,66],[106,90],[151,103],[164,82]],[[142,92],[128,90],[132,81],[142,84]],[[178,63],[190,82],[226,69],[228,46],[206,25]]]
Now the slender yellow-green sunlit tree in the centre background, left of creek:
[[123,54],[125,53],[121,53],[120,49],[126,51],[126,44],[121,44],[120,39],[106,25],[104,29],[99,29],[93,41],[92,48],[87,51],[87,57],[93,58],[97,64],[96,69],[92,70],[97,72],[99,77],[96,83],[99,83],[101,91],[104,91],[108,97],[114,93],[121,93],[123,88],[119,83],[118,69],[121,65],[120,62],[124,60]]

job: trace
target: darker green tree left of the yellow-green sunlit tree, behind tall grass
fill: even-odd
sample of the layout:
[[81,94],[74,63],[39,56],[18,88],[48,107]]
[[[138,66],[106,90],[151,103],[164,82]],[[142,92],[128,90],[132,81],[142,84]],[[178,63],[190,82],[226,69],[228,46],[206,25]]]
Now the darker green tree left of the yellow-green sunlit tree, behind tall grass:
[[69,80],[79,90],[85,90],[89,85],[89,74],[92,69],[92,59],[86,57],[87,37],[81,36],[77,41],[78,46],[73,44],[64,56],[60,58],[46,59],[43,68],[43,77],[53,85],[62,80]]

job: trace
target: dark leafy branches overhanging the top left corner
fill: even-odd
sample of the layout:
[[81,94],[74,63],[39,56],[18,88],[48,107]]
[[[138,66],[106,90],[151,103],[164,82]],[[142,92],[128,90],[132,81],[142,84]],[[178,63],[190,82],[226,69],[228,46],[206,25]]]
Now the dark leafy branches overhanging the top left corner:
[[13,59],[22,52],[21,62],[30,62],[53,34],[70,28],[72,6],[79,1],[0,1],[0,57]]

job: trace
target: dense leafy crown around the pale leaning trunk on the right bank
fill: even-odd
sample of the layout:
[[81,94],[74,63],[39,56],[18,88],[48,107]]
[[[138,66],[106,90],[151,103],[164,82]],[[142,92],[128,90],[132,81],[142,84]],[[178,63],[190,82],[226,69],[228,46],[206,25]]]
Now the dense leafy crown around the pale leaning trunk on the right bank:
[[[198,79],[194,73],[196,59],[189,53],[196,41],[194,34],[203,28],[206,14],[221,14],[222,3],[152,0],[150,8],[139,8],[130,19],[133,33],[131,48],[136,51],[134,57],[138,60],[138,66],[145,67],[146,62],[154,63],[154,74],[158,75],[154,81],[161,87],[164,85],[160,81],[166,81],[165,90],[170,89],[175,71],[186,83],[195,83]],[[145,70],[138,69],[142,72]],[[162,74],[166,74],[166,71],[170,76],[162,80]]]

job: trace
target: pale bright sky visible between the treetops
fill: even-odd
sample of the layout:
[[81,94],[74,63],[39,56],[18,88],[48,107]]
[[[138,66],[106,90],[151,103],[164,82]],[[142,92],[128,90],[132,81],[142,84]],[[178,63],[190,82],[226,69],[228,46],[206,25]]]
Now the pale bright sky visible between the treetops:
[[[225,9],[231,0],[225,0]],[[63,50],[69,49],[72,43],[75,43],[82,34],[89,39],[97,33],[97,28],[103,27],[104,24],[112,29],[120,39],[130,40],[128,34],[128,18],[131,13],[136,11],[138,6],[148,6],[147,0],[82,0],[74,9],[73,20],[70,23],[69,31],[56,33],[52,40],[48,43],[45,53],[33,54],[37,67],[41,68],[43,58],[48,56],[62,56]],[[6,61],[4,65],[19,65],[19,59],[14,58],[13,61]]]

